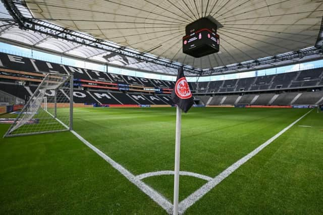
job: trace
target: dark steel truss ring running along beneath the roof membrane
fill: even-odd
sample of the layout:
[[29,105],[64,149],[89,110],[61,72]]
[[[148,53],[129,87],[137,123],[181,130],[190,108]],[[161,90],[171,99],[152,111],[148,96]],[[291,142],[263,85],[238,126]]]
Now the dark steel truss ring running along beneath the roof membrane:
[[[97,39],[92,36],[79,33],[73,30],[69,30],[38,19],[25,18],[16,7],[15,4],[18,4],[17,2],[14,2],[12,0],[1,0],[1,1],[4,3],[10,15],[15,19],[19,27],[23,30],[32,30],[34,32],[39,32],[41,34],[52,36],[57,39],[60,38],[66,41],[78,43],[80,45],[85,45],[88,47],[93,47],[106,52],[114,52],[123,56],[135,58],[139,61],[151,62],[154,64],[159,64],[159,65],[172,67],[172,68],[179,68],[180,66],[182,66],[181,63],[176,61],[172,61],[166,58],[160,58],[160,57],[151,55],[149,53],[139,52],[134,49],[123,47],[109,41]],[[20,6],[24,5],[27,8],[24,1],[19,1],[19,5]],[[188,76],[194,76],[194,75],[210,76],[210,75],[218,75],[218,74],[220,75],[224,73],[238,73],[238,72],[248,71],[248,70],[252,70],[249,68],[253,68],[259,65],[273,65],[275,63],[293,60],[295,58],[302,58],[310,55],[318,55],[318,56],[321,56],[319,58],[323,58],[323,56],[321,55],[322,43],[323,43],[322,25],[321,25],[321,29],[320,29],[315,47],[309,47],[298,51],[278,54],[276,56],[264,57],[256,60],[250,60],[247,62],[241,62],[241,63],[209,68],[209,69],[194,68],[189,65],[183,65],[183,67],[187,73],[190,73],[188,74]],[[266,68],[269,68],[269,67],[270,66],[266,66]],[[272,66],[272,67],[275,67],[275,66]]]

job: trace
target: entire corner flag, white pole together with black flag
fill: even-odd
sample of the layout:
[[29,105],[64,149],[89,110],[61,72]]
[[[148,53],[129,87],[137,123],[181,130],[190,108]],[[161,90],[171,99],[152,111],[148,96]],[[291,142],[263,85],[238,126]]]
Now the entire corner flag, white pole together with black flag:
[[186,113],[193,105],[194,100],[190,87],[184,76],[183,67],[178,69],[177,80],[172,92],[172,99],[176,107],[176,137],[175,137],[175,169],[174,169],[174,207],[173,214],[178,215],[178,196],[180,184],[180,151],[182,110]]

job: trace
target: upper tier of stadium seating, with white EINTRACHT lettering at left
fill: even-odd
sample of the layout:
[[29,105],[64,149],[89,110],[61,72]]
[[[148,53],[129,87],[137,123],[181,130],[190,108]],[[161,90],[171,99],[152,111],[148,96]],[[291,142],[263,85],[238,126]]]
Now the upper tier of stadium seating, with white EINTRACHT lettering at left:
[[[9,72],[6,69],[10,69],[11,72]],[[23,74],[20,73],[20,71],[25,71],[27,73]],[[322,71],[322,68],[314,68],[302,71],[295,71],[292,73],[259,76],[253,78],[198,83],[191,82],[190,87],[193,93],[231,93],[241,91],[270,91],[277,89],[323,87]],[[32,74],[28,74],[28,72]],[[73,74],[74,79],[76,80],[76,82],[80,83],[81,87],[88,88],[104,88],[104,83],[113,83],[118,87],[111,88],[111,90],[119,89],[121,91],[143,92],[144,90],[147,90],[143,88],[155,88],[163,89],[163,91],[160,92],[170,93],[170,89],[174,88],[174,82],[172,81],[154,80],[105,73],[102,71],[68,66],[59,63],[51,63],[42,60],[31,59],[27,57],[21,57],[0,52],[0,79],[26,81],[36,80],[40,82],[40,80],[43,78],[43,73],[48,72]],[[34,76],[33,74],[39,75]],[[133,87],[133,89],[131,89],[131,87]],[[106,88],[105,86],[105,89],[110,88]],[[153,92],[153,90],[149,91],[149,89],[146,92]]]

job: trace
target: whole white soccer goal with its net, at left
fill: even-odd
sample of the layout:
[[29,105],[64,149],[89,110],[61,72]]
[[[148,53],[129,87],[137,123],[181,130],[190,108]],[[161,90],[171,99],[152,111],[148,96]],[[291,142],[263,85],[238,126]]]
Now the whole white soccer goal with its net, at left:
[[47,74],[5,136],[71,130],[73,76]]

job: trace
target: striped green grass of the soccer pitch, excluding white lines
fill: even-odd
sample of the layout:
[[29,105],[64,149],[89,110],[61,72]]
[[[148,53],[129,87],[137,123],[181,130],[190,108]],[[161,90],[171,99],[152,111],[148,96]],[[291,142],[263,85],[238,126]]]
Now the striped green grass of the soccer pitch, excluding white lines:
[[[182,115],[180,169],[213,178],[308,111],[192,108]],[[134,175],[174,170],[175,114],[76,108],[74,130]],[[322,155],[323,114],[313,110],[185,214],[322,214]],[[143,179],[171,202],[173,180]],[[180,176],[180,201],[204,183]],[[0,193],[0,214],[167,213],[69,131],[1,138]]]

